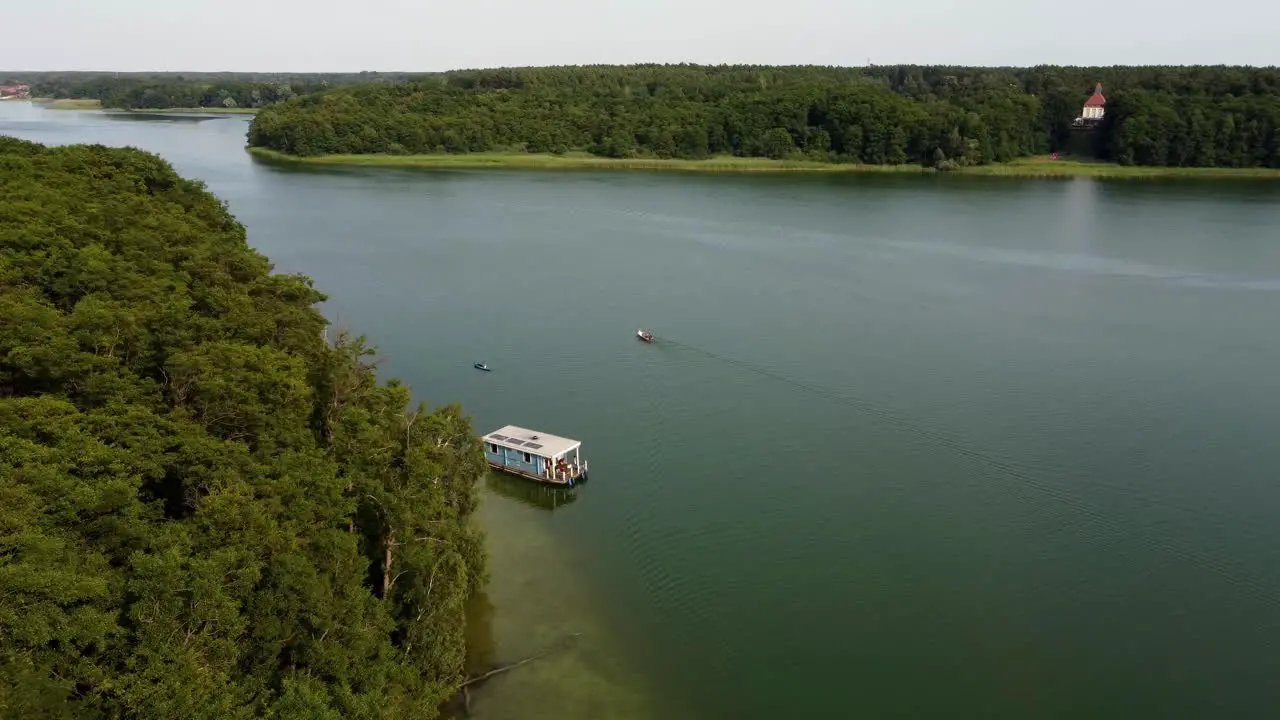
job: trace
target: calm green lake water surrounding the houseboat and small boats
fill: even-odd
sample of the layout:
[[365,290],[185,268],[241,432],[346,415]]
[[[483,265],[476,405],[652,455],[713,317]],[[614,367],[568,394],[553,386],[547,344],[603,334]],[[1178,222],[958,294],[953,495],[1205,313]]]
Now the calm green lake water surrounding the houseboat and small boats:
[[573,495],[486,480],[477,653],[579,637],[476,716],[1280,706],[1280,183],[300,172],[246,127],[0,104],[206,181],[421,398],[584,441]]

